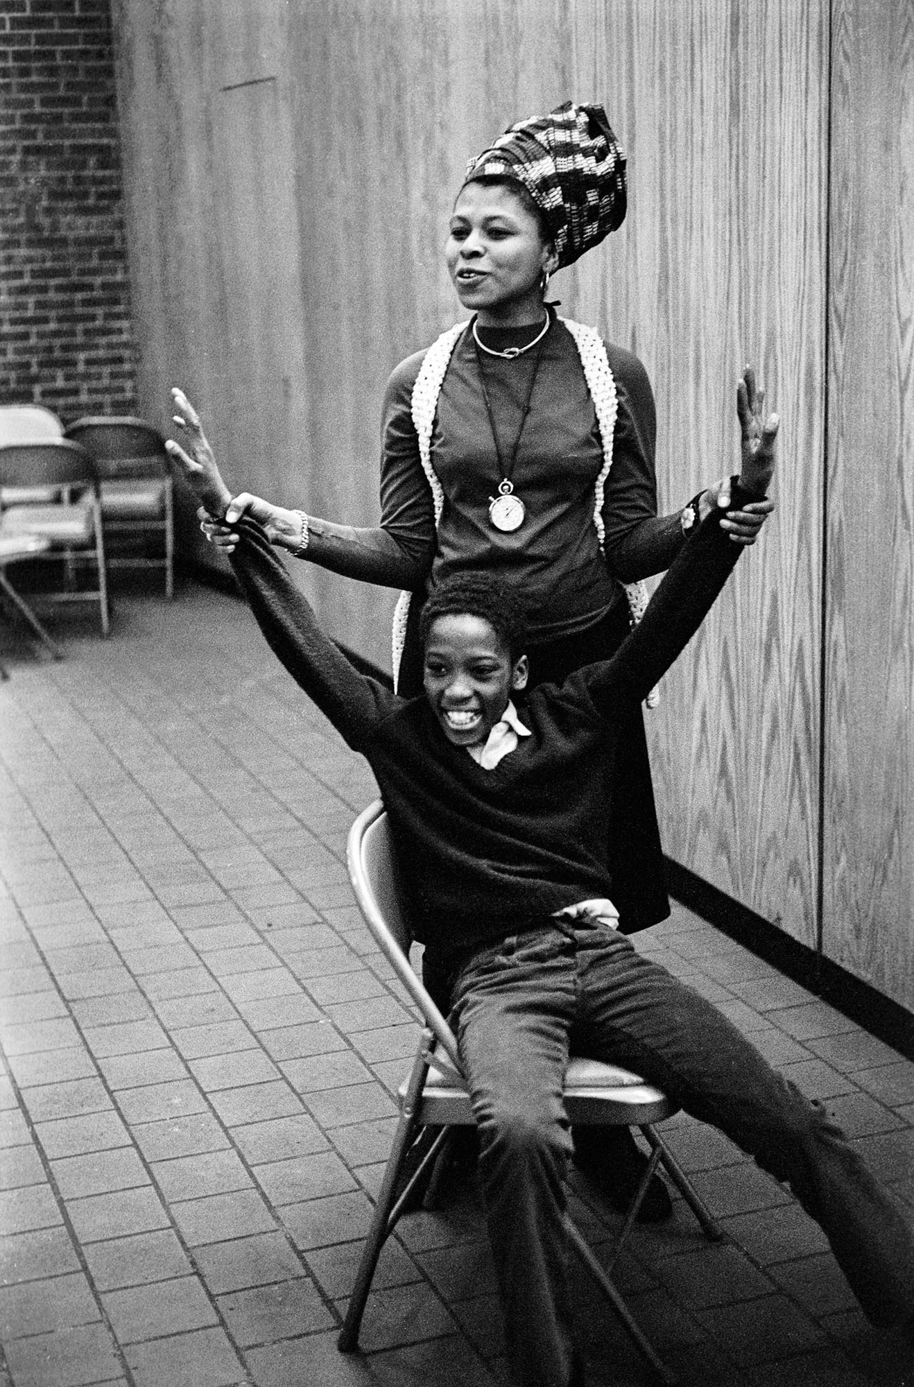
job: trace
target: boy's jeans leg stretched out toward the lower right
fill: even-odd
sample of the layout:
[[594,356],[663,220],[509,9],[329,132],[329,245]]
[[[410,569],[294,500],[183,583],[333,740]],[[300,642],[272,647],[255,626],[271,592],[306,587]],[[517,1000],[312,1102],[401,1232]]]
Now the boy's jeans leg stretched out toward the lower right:
[[720,1128],[825,1232],[874,1325],[914,1315],[914,1230],[821,1104],[777,1074],[720,1011],[621,936],[578,954],[576,1053],[628,1064]]

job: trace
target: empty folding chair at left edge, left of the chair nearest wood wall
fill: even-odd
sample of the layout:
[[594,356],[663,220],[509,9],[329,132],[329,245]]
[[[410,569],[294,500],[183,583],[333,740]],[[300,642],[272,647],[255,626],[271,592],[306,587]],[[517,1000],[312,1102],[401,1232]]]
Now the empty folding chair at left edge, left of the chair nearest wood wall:
[[[60,499],[42,505],[4,505],[7,488],[51,488]],[[14,492],[15,494],[15,492]],[[0,447],[0,538],[35,535],[47,541],[47,558],[64,560],[64,583],[43,591],[55,602],[97,602],[108,634],[108,580],[96,465],[65,438]],[[76,588],[78,567],[93,566],[94,588]]]

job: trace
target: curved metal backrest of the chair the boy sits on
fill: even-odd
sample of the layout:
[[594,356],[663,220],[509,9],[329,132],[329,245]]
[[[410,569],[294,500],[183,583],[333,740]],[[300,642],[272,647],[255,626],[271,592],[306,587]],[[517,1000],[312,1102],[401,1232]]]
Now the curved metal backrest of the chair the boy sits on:
[[352,890],[373,939],[459,1069],[460,1060],[454,1032],[409,963],[412,933],[398,882],[399,868],[390,822],[380,799],[363,809],[352,824],[347,842],[347,860]]

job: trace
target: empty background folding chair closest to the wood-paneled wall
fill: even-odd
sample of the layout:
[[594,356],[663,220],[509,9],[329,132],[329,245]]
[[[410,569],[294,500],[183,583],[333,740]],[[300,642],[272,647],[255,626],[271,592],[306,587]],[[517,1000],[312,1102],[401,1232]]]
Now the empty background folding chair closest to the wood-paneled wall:
[[[171,598],[175,591],[175,524],[164,437],[144,419],[87,415],[67,427],[67,438],[92,454],[98,469],[101,519],[112,541],[108,567],[162,569],[165,596]],[[122,538],[135,540],[144,551],[150,535],[158,540],[158,553],[122,552]]]

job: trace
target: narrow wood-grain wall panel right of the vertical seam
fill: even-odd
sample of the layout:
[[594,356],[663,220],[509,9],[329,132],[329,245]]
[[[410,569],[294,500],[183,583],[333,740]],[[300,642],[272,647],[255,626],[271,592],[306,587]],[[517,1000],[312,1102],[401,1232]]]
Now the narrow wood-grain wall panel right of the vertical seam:
[[914,1008],[914,4],[832,33],[822,943]]

